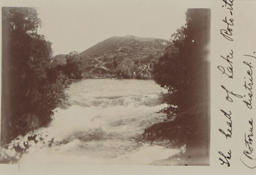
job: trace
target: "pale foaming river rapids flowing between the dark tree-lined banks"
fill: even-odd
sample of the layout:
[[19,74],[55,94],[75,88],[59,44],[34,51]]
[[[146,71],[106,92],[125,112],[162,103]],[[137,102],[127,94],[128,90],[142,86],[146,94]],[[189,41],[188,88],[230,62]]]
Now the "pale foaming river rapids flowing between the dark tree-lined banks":
[[164,120],[155,113],[166,106],[162,91],[152,80],[73,82],[69,108],[56,109],[51,125],[34,131],[44,140],[19,163],[152,164],[169,158],[178,150],[168,143],[142,141],[145,128]]

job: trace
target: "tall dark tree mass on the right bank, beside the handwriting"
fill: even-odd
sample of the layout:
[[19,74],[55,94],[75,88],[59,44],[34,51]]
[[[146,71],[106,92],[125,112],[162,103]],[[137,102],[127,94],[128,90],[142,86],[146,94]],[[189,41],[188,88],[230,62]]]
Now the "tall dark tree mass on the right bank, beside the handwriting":
[[189,148],[209,143],[209,54],[210,10],[188,9],[186,24],[170,39],[165,54],[154,65],[154,80],[167,88],[162,109],[167,123],[152,126],[147,132],[162,133],[175,144]]

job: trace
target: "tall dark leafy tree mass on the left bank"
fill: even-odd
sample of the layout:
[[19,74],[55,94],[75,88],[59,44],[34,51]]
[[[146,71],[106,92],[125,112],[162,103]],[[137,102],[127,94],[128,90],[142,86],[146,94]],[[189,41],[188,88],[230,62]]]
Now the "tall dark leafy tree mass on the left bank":
[[2,144],[47,125],[67,98],[70,81],[51,66],[51,42],[39,26],[34,8],[2,8]]

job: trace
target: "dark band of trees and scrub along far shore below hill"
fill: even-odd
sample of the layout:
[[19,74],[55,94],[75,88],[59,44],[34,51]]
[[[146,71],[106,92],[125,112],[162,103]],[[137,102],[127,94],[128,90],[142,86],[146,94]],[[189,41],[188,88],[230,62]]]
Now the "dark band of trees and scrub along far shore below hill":
[[[63,59],[63,58],[62,58]],[[78,52],[65,56],[65,62],[53,62],[56,69],[74,79],[80,78],[121,78],[152,79],[153,65],[157,58],[149,55],[132,60],[109,57],[109,55],[82,59]]]

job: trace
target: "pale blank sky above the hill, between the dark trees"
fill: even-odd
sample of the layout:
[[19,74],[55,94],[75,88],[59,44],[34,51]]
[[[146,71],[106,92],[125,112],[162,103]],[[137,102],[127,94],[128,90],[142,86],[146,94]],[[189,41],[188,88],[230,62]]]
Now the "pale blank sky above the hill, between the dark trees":
[[53,55],[82,52],[112,36],[170,39],[185,24],[185,7],[142,1],[85,1],[37,7],[38,30],[52,42]]

